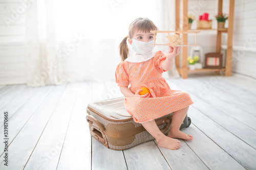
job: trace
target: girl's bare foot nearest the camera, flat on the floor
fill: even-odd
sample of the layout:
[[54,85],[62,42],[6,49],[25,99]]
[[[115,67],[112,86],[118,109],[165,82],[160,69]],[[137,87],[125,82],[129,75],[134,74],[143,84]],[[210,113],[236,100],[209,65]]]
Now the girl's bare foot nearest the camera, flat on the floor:
[[170,150],[177,150],[180,148],[180,141],[163,135],[161,139],[157,140],[157,144],[160,147],[167,148]]

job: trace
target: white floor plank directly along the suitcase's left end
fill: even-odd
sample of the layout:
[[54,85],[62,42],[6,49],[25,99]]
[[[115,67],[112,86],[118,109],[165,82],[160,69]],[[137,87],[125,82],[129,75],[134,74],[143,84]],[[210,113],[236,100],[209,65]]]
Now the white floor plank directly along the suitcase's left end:
[[[87,103],[92,101],[92,86],[81,83],[57,169],[91,169],[91,136],[86,120]],[[81,161],[82,160],[82,161]]]

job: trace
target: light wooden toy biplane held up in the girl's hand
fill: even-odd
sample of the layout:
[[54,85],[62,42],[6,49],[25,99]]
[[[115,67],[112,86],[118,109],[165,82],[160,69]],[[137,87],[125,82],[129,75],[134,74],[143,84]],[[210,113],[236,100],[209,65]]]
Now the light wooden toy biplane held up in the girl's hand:
[[[154,36],[156,37],[156,33],[167,33],[168,36],[168,43],[166,44],[156,44],[156,39],[154,40],[154,44],[151,45],[169,45],[169,46],[199,46],[197,44],[197,34],[200,33],[201,31],[150,31],[154,33]],[[170,33],[175,33],[173,35],[170,35]],[[180,34],[180,36],[178,35]],[[196,39],[195,39],[195,44],[184,44],[182,41],[182,35],[183,34],[195,34]]]

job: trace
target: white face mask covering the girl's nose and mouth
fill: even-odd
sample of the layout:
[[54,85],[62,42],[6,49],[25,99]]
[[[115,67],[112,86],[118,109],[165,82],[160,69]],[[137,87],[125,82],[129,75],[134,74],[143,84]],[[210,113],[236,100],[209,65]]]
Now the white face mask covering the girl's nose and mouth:
[[155,45],[151,44],[154,44],[154,40],[144,42],[132,38],[132,48],[137,54],[145,55],[151,53],[153,51],[153,48],[155,47]]

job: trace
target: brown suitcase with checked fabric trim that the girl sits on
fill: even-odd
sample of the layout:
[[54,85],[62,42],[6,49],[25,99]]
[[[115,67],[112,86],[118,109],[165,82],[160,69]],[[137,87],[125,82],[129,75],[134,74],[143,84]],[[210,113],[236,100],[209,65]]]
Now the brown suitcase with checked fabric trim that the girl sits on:
[[[124,97],[90,103],[87,112],[91,135],[107,148],[125,150],[154,139],[125,110]],[[159,129],[165,135],[169,131],[172,115],[170,113],[156,119]],[[186,116],[180,129],[188,127],[190,123],[190,118]]]

